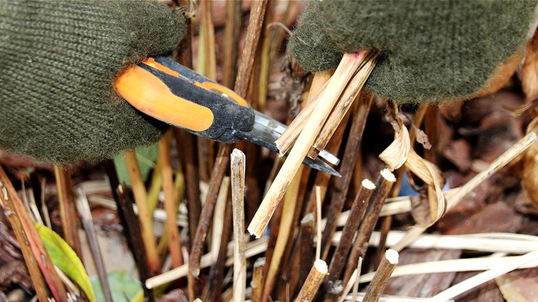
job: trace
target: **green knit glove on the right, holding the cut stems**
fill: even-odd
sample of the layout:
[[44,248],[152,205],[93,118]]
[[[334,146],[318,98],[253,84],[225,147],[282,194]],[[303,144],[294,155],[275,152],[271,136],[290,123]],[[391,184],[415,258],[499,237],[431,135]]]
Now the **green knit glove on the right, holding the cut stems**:
[[289,50],[308,71],[336,68],[343,52],[381,58],[366,87],[383,99],[469,99],[523,54],[537,1],[311,1]]

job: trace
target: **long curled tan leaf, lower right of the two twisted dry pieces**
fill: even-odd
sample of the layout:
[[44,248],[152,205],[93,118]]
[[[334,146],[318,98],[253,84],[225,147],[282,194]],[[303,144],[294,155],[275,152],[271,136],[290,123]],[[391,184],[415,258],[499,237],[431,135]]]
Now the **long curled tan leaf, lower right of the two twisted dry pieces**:
[[[439,220],[446,211],[446,200],[442,192],[444,177],[437,167],[419,157],[415,150],[410,150],[406,161],[406,168],[417,175],[426,185],[428,185],[428,206],[430,208],[429,224]],[[419,215],[424,216],[424,215]],[[416,221],[420,225],[426,224],[424,219]]]

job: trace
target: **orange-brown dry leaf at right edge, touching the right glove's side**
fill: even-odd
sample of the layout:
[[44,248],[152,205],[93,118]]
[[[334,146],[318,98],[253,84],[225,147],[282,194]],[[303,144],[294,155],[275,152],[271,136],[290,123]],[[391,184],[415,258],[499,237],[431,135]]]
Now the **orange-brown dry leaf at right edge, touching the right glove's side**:
[[526,100],[530,101],[538,97],[538,54],[536,53],[536,43],[538,32],[527,46],[527,57],[521,68],[521,88],[525,93]]

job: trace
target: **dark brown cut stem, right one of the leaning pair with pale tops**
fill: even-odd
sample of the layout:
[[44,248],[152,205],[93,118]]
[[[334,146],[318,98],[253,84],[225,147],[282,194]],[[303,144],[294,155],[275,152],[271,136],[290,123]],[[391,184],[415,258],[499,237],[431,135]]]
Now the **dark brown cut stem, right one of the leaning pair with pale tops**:
[[375,193],[368,204],[368,208],[364,214],[364,219],[361,221],[361,226],[359,228],[359,232],[357,233],[357,238],[355,239],[355,243],[348,258],[348,265],[343,276],[343,283],[348,283],[350,275],[353,272],[353,268],[355,267],[355,263],[359,261],[359,257],[364,258],[364,254],[366,254],[365,247],[367,246],[370,236],[374,231],[377,219],[379,219],[379,213],[381,212],[383,203],[385,202],[385,199],[390,192],[390,188],[392,188],[392,184],[395,183],[395,181],[396,178],[392,172],[390,172],[388,169],[381,170],[381,178],[377,185],[377,189],[375,190]]

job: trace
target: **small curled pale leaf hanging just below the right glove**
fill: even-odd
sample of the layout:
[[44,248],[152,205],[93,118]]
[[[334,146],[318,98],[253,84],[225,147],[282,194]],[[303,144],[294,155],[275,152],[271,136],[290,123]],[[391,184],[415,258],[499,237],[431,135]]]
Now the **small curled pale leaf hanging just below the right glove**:
[[[397,117],[397,116],[396,116]],[[397,117],[399,131],[396,131],[395,139],[390,145],[379,154],[379,159],[384,161],[391,171],[400,168],[407,161],[409,151],[411,150],[411,141],[409,132],[401,119]],[[392,125],[396,128],[395,125]]]

